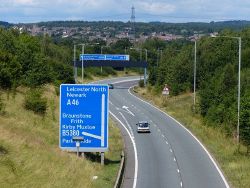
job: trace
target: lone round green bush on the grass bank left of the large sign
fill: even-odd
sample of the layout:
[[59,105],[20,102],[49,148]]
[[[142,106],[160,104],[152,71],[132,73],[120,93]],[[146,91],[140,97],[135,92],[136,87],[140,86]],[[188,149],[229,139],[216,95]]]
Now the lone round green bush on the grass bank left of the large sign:
[[44,115],[47,110],[47,100],[42,97],[40,89],[30,89],[24,101],[24,107],[27,110],[32,110],[35,113]]

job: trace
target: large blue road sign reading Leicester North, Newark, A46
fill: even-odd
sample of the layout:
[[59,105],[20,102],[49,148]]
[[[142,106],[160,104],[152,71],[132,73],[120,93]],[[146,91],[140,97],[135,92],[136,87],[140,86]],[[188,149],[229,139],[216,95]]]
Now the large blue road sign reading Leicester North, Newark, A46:
[[73,137],[83,137],[80,152],[108,149],[108,85],[62,84],[60,87],[61,149],[77,151]]

